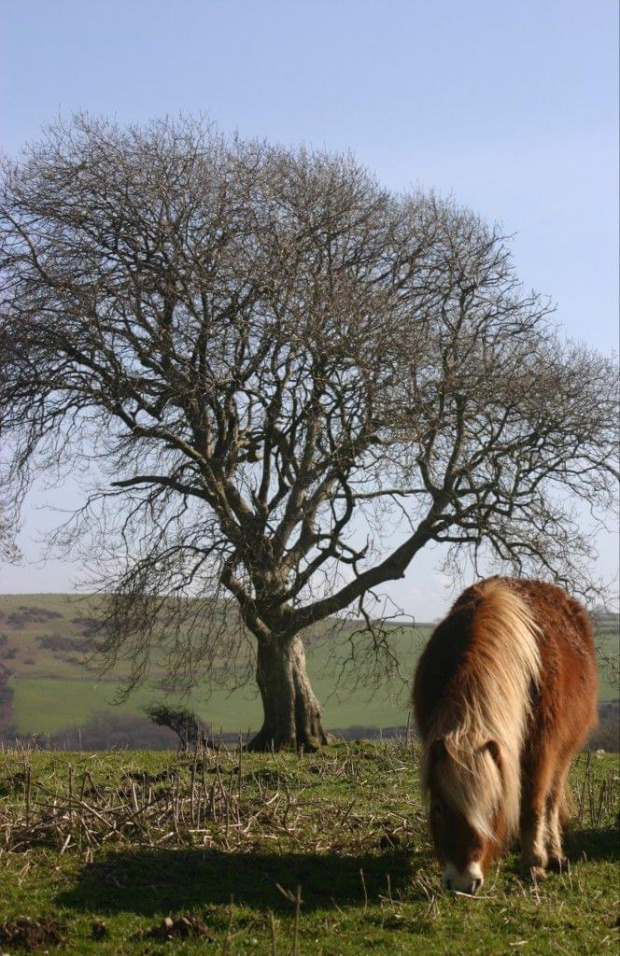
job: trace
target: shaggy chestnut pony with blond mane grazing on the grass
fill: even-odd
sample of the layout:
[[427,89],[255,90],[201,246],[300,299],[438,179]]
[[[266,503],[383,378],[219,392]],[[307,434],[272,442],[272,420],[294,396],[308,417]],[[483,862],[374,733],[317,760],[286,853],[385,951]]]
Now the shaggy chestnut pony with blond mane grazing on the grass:
[[517,836],[532,878],[564,866],[570,760],[596,723],[594,643],[581,604],[541,581],[489,578],[468,588],[424,649],[413,707],[446,886],[475,893]]

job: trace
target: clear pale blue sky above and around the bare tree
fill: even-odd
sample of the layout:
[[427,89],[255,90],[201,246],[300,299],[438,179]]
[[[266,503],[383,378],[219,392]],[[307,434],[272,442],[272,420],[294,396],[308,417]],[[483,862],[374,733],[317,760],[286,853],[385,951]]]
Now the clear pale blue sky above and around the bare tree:
[[[350,150],[395,191],[432,188],[499,223],[565,334],[617,350],[616,0],[0,0],[0,22],[8,154],[78,110],[202,113],[244,137]],[[77,582],[37,543],[74,495],[33,494],[1,593]],[[599,549],[612,578],[617,529]],[[454,597],[437,557],[398,588],[420,620]]]

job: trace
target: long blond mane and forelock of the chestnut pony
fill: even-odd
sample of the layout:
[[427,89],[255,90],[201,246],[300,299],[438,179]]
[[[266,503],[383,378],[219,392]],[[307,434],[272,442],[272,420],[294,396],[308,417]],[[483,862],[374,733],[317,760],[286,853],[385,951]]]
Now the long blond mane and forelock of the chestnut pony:
[[[425,734],[422,786],[428,797],[432,779],[433,789],[487,837],[501,808],[512,838],[519,825],[520,752],[531,689],[540,679],[539,628],[506,581],[485,581],[474,594],[468,649]],[[437,739],[441,759],[435,759]],[[490,741],[495,744],[488,746]]]

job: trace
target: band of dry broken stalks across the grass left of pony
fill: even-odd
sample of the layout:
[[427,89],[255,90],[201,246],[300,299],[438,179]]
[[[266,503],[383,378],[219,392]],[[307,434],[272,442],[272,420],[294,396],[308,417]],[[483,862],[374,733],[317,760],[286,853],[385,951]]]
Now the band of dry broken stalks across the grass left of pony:
[[[387,745],[382,749],[384,769],[390,775],[411,772],[413,757],[406,760],[404,753],[397,755],[396,748]],[[91,770],[76,770],[71,763],[66,763],[64,779],[58,772],[52,781],[42,779],[33,771],[34,754],[24,749],[8,757],[12,770],[4,787],[21,794],[21,799],[0,811],[5,853],[45,844],[61,854],[79,847],[89,859],[94,850],[111,843],[141,847],[199,843],[235,852],[278,836],[299,848],[329,852],[329,842],[319,835],[326,817],[337,823],[339,844],[344,833],[355,834],[360,846],[374,845],[376,839],[396,846],[407,839],[407,820],[400,814],[388,814],[393,817],[389,822],[385,816],[380,822],[372,817],[362,821],[355,800],[344,807],[325,797],[312,800],[305,787],[295,786],[295,765],[291,771],[287,757],[273,755],[267,766],[257,767],[256,758],[241,749],[196,751],[156,773],[133,770],[111,783],[96,779]],[[100,763],[105,763],[105,756]],[[333,755],[314,755],[309,763],[306,759],[304,771],[317,781],[353,782],[362,775],[363,763],[354,747],[345,747]],[[407,803],[406,794],[402,799]]]

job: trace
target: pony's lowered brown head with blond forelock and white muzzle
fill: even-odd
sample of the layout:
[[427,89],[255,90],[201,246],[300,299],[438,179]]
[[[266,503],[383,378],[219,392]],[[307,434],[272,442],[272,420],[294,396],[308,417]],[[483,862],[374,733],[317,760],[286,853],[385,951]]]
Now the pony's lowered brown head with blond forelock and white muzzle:
[[496,741],[458,752],[433,741],[427,755],[426,794],[430,830],[448,889],[476,893],[506,830],[502,758]]

